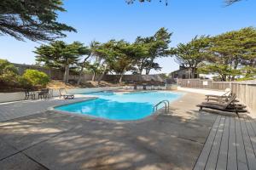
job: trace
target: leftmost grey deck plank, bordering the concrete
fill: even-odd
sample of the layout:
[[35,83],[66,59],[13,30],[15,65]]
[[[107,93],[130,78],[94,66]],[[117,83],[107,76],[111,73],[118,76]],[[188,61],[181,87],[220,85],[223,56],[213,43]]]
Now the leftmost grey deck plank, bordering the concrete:
[[206,141],[203,149],[201,150],[201,154],[195,164],[195,167],[194,167],[195,170],[205,169],[205,167],[207,165],[207,159],[208,159],[208,156],[212,149],[212,143],[215,139],[220,119],[221,119],[221,116],[217,116],[217,118],[212,126],[211,132],[209,133],[207,141]]

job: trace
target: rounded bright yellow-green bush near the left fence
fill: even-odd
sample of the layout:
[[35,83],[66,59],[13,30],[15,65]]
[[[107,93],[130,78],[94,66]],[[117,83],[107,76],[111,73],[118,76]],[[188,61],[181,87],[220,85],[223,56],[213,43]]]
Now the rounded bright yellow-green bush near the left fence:
[[[45,87],[49,82],[49,77],[42,71],[36,70],[26,70],[22,76],[27,82],[31,83],[32,86],[42,86]],[[21,79],[21,82],[24,80]]]

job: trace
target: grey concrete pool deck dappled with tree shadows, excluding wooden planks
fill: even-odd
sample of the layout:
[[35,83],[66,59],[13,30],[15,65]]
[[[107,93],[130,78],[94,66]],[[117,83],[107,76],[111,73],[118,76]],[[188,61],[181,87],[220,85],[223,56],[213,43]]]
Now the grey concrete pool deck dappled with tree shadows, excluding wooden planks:
[[218,118],[198,112],[195,105],[203,99],[187,93],[169,114],[134,123],[32,114],[16,106],[16,112],[28,113],[0,122],[0,169],[193,169]]

